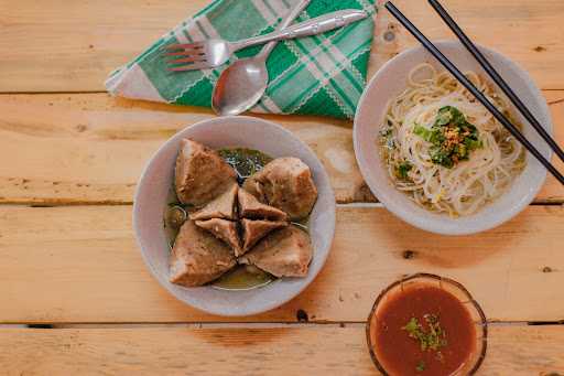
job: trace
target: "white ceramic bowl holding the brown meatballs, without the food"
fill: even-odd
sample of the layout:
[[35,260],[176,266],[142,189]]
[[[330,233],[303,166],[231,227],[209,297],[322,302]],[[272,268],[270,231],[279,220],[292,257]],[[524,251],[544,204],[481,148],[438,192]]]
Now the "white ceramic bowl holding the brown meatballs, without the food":
[[[194,139],[214,149],[242,147],[260,150],[273,158],[297,157],[310,166],[317,185],[318,198],[310,223],[314,255],[307,277],[283,278],[248,291],[225,291],[213,287],[183,288],[169,282],[169,247],[163,229],[163,213],[183,138]],[[329,254],[335,233],[335,197],[329,178],[317,157],[288,130],[258,118],[215,118],[176,133],[150,160],[135,193],[133,227],[147,266],[173,296],[209,313],[249,315],[271,310],[291,300],[317,276]]]

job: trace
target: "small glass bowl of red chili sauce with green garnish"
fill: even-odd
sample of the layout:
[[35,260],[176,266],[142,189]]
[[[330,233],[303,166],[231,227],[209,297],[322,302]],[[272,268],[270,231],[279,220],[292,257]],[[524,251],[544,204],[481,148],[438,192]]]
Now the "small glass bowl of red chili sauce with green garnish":
[[486,356],[488,324],[464,286],[416,273],[380,293],[366,335],[370,356],[384,375],[466,376]]

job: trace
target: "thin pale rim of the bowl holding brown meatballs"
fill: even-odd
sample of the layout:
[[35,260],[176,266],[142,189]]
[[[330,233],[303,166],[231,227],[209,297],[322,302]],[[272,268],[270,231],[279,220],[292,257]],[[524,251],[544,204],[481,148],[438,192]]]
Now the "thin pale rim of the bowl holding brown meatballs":
[[[327,190],[326,190],[326,195],[327,198],[332,198],[330,202],[330,206],[328,207],[328,211],[330,212],[330,216],[333,218],[332,223],[330,224],[327,224],[329,227],[328,227],[328,234],[327,234],[327,239],[328,239],[328,243],[327,243],[327,246],[326,246],[326,249],[322,249],[322,250],[325,250],[323,253],[323,255],[319,255],[318,253],[315,253],[316,249],[314,249],[314,256],[317,257],[317,260],[319,260],[319,267],[317,270],[311,270],[310,269],[310,275],[305,278],[303,278],[302,280],[300,280],[301,283],[299,283],[296,287],[295,287],[295,290],[293,290],[291,293],[289,293],[286,297],[284,297],[283,299],[270,299],[267,301],[265,304],[261,305],[261,307],[256,307],[253,309],[245,309],[242,310],[242,312],[240,311],[237,311],[237,312],[230,312],[230,311],[226,311],[226,310],[216,310],[216,309],[212,309],[212,308],[207,308],[207,307],[202,307],[199,304],[196,304],[194,301],[187,301],[184,299],[184,297],[180,293],[180,291],[173,289],[173,286],[172,283],[167,282],[167,281],[162,281],[161,278],[160,278],[160,273],[155,270],[154,266],[152,265],[151,260],[150,260],[150,257],[149,257],[149,254],[145,251],[145,245],[143,245],[143,241],[142,241],[142,229],[141,229],[141,224],[140,224],[140,204],[139,202],[141,202],[142,200],[140,200],[141,197],[141,191],[143,189],[143,186],[147,184],[144,181],[147,179],[147,173],[148,171],[151,169],[152,164],[154,163],[154,161],[156,160],[156,158],[163,153],[171,143],[173,142],[176,142],[176,141],[180,141],[180,139],[186,137],[186,136],[183,136],[185,132],[188,131],[188,129],[193,129],[193,128],[198,128],[198,127],[205,127],[206,125],[210,123],[210,122],[223,122],[223,121],[229,121],[229,120],[234,120],[236,119],[236,121],[241,121],[241,120],[247,120],[247,121],[254,121],[254,122],[261,122],[263,126],[265,127],[271,127],[271,129],[274,129],[275,131],[278,132],[281,132],[281,133],[284,133],[285,136],[294,139],[295,141],[300,142],[301,146],[304,148],[304,150],[306,150],[311,157],[313,157],[315,159],[315,161],[318,163],[318,165],[321,166],[321,179],[324,180],[325,182],[327,182]],[[316,203],[317,204],[317,203]],[[315,206],[314,206],[314,210],[315,210]],[[176,298],[177,300],[180,300],[182,303],[186,304],[186,305],[189,305],[196,310],[199,310],[202,312],[206,312],[206,313],[209,313],[209,314],[215,314],[215,315],[221,315],[221,316],[249,316],[249,315],[254,315],[254,314],[259,314],[259,313],[263,313],[263,312],[268,312],[270,310],[273,310],[275,308],[279,308],[280,305],[291,301],[292,299],[294,299],[295,297],[297,297],[300,293],[302,293],[314,280],[315,278],[318,276],[318,273],[322,271],[322,269],[325,267],[325,264],[327,261],[327,258],[333,249],[333,240],[334,240],[334,237],[335,237],[335,227],[336,227],[336,202],[335,202],[335,193],[333,191],[333,186],[330,185],[330,179],[327,174],[327,171],[325,170],[325,166],[323,165],[322,161],[318,159],[317,154],[305,143],[303,142],[302,140],[300,140],[294,133],[292,133],[290,130],[285,129],[284,127],[273,122],[273,121],[269,121],[269,120],[264,120],[262,118],[258,118],[258,117],[252,117],[252,116],[223,116],[223,117],[214,117],[214,118],[209,118],[209,119],[204,119],[204,120],[200,120],[200,121],[197,121],[193,125],[189,125],[187,127],[184,127],[182,129],[180,129],[176,133],[174,133],[172,137],[170,137],[169,139],[166,139],[166,141],[164,141],[160,147],[159,149],[150,157],[150,159],[145,162],[144,166],[143,166],[143,170],[140,174],[140,178],[138,179],[138,185],[135,187],[135,193],[134,193],[134,196],[133,196],[133,210],[132,210],[132,227],[133,227],[133,230],[134,230],[134,235],[135,235],[135,243],[138,245],[138,249],[139,251],[141,253],[141,256],[143,258],[143,261],[145,264],[145,266],[149,268],[152,277],[159,282],[159,284],[161,287],[163,287],[169,293],[171,293],[174,298]],[[274,281],[274,283],[281,283],[281,282],[284,282],[284,280],[282,278],[279,278]],[[269,286],[272,284],[272,283],[269,283]],[[182,288],[182,287],[181,287]],[[189,288],[183,288],[183,290],[189,290]],[[237,291],[232,291],[232,292],[237,292]]]

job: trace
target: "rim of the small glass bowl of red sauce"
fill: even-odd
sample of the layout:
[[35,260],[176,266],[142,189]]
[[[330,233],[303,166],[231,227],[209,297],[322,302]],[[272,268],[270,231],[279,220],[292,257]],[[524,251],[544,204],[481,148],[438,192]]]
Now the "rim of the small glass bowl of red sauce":
[[476,301],[476,299],[474,299],[474,297],[468,291],[468,289],[466,289],[464,287],[464,284],[462,284],[460,282],[458,282],[452,278],[441,277],[441,276],[429,273],[429,272],[416,272],[413,275],[406,275],[406,276],[402,277],[401,279],[389,284],[386,289],[383,289],[380,292],[378,298],[376,298],[375,303],[372,304],[372,308],[370,310],[370,313],[368,314],[368,319],[367,319],[366,326],[365,326],[366,342],[368,345],[368,352],[370,353],[370,358],[372,359],[372,363],[378,368],[378,370],[380,370],[383,375],[389,375],[388,372],[386,370],[386,368],[383,367],[383,365],[378,359],[378,355],[376,354],[375,346],[372,345],[372,339],[370,335],[370,329],[372,326],[372,318],[376,314],[378,307],[382,302],[383,298],[390,291],[392,291],[395,287],[401,286],[402,283],[409,282],[409,281],[417,280],[417,279],[432,279],[432,280],[438,281],[440,284],[447,283],[447,284],[453,286],[454,288],[458,289],[467,298],[466,302],[470,303],[471,307],[478,313],[478,315],[480,318],[479,325],[481,326],[481,341],[480,341],[481,350],[480,350],[480,354],[478,355],[478,358],[476,359],[476,363],[474,364],[471,369],[468,372],[468,375],[475,375],[478,372],[478,369],[480,368],[481,364],[484,363],[484,359],[486,358],[486,353],[488,350],[488,319],[486,318],[486,313],[484,312],[484,309],[481,308],[481,305]]

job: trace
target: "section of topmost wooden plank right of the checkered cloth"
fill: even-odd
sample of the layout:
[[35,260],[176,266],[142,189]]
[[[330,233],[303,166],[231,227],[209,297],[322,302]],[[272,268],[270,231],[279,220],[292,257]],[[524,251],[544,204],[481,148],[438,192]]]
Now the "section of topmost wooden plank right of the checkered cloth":
[[[429,39],[456,39],[426,1],[399,0],[394,4]],[[564,88],[560,69],[564,62],[564,34],[560,25],[564,2],[445,0],[442,4],[475,43],[499,51],[523,66],[541,88]],[[378,17],[372,73],[398,52],[419,45],[388,11],[382,10]]]

